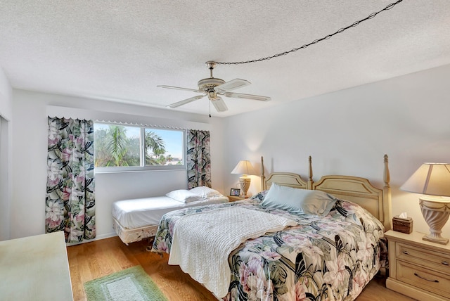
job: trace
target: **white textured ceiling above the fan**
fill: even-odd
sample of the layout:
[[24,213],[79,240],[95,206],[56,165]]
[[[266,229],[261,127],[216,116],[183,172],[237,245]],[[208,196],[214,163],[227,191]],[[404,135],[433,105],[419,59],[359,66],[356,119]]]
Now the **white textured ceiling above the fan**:
[[[13,88],[158,108],[198,94],[207,60],[252,60],[307,44],[392,1],[0,0],[0,66]],[[450,63],[450,1],[404,0],[287,56],[218,65],[214,77],[268,102],[224,98],[236,115]],[[169,109],[168,110],[175,110]],[[207,98],[176,108],[207,115]]]

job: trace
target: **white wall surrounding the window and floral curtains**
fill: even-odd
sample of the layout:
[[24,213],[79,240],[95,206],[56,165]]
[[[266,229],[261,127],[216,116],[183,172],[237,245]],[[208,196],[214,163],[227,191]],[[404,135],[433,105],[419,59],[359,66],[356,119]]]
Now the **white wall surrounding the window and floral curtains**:
[[[58,108],[60,107],[60,108]],[[70,109],[62,108],[70,107]],[[49,109],[50,108],[50,109]],[[59,111],[59,112],[58,112]],[[168,120],[177,124],[206,124],[212,135],[212,184],[223,191],[221,177],[221,124],[217,118],[176,113],[169,110],[110,103],[31,91],[13,90],[13,191],[11,202],[11,238],[44,233],[46,193],[47,114],[96,115],[107,112],[108,118],[121,121]],[[78,117],[78,116],[77,116]],[[115,235],[111,204],[122,198],[157,196],[175,188],[186,188],[186,171],[122,172],[96,174],[97,238]]]

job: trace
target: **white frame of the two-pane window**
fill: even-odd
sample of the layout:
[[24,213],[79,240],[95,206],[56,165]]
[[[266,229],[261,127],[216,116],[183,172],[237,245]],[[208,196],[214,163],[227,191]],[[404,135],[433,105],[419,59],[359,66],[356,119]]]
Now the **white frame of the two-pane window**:
[[[112,167],[94,167],[95,173],[115,173],[115,172],[148,172],[148,171],[164,171],[164,170],[186,170],[186,129],[176,129],[176,128],[165,128],[165,127],[156,127],[156,126],[148,126],[144,124],[127,124],[121,122],[100,122],[94,121],[94,129],[95,124],[106,124],[106,125],[120,125],[122,127],[138,127],[139,128],[139,158],[140,158],[140,166],[112,166]],[[158,129],[162,131],[176,131],[182,133],[182,165],[145,165],[145,129]],[[94,131],[95,132],[95,131]],[[94,150],[95,150],[95,141],[94,141]],[[95,152],[94,152],[95,158]]]

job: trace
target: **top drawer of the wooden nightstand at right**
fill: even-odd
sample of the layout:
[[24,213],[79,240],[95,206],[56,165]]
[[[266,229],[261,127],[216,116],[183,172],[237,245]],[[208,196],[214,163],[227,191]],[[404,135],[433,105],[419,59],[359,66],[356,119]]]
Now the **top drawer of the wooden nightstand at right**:
[[397,260],[404,260],[435,271],[442,271],[442,273],[450,276],[450,255],[448,254],[431,252],[404,243],[397,243],[395,252]]

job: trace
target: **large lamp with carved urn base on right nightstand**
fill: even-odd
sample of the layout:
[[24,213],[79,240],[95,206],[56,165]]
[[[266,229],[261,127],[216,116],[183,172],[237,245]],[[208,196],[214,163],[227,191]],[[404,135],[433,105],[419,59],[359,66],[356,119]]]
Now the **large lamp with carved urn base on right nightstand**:
[[450,215],[450,198],[444,198],[450,196],[450,164],[423,163],[400,190],[427,195],[419,198],[420,210],[430,227],[430,234],[422,239],[446,245],[449,238],[441,233]]

